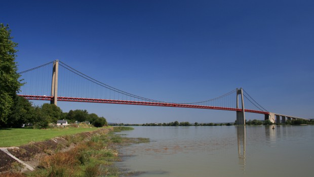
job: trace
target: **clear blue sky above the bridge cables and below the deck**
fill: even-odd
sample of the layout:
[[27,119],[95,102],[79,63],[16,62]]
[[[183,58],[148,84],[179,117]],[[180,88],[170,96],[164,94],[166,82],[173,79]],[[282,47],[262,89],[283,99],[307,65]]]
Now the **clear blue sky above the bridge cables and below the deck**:
[[[313,9],[314,1],[302,0],[12,0],[1,3],[0,23],[19,44],[19,71],[58,59],[117,89],[168,102],[243,87],[270,112],[314,118]],[[235,112],[218,110],[58,106],[117,123],[235,120]]]

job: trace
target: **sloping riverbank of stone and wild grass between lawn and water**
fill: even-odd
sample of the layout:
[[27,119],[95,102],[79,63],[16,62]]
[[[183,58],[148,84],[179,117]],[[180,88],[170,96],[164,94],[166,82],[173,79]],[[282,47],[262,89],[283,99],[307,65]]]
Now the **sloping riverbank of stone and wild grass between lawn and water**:
[[101,128],[5,148],[18,162],[1,150],[0,171],[5,176],[119,176],[114,161],[119,160],[117,145],[147,142],[148,139],[127,139],[109,133],[114,128]]

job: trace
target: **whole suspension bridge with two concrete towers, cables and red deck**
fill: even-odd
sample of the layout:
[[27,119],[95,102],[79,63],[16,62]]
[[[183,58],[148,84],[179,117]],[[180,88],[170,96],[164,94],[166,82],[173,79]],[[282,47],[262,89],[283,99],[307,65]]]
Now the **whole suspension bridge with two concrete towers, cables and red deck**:
[[[286,118],[288,120],[305,119],[271,113],[259,105],[242,88],[234,89],[222,96],[205,101],[172,103],[144,98],[116,89],[59,60],[22,71],[19,74],[23,79],[22,82],[25,83],[18,93],[19,96],[27,100],[50,101],[51,104],[55,105],[58,101],[67,101],[226,110],[235,111],[237,123],[241,125],[245,124],[245,112],[264,114],[265,120],[270,120],[273,123],[285,123]],[[244,103],[246,103],[246,107]]]

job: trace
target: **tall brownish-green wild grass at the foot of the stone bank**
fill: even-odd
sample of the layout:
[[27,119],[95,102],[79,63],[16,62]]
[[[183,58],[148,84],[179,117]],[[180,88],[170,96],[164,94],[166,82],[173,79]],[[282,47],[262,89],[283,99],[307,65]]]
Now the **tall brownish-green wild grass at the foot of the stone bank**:
[[[68,138],[68,141],[71,141]],[[46,156],[40,162],[40,167],[29,176],[119,176],[119,170],[110,167],[113,161],[119,159],[115,149],[109,148],[104,141],[107,136],[92,136],[90,141],[76,145],[68,152],[58,152]]]

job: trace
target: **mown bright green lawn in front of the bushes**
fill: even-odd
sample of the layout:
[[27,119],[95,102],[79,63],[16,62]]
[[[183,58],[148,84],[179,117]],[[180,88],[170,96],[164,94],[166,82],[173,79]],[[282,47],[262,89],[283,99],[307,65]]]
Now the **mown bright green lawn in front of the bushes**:
[[[108,127],[102,127],[108,128]],[[67,127],[67,128],[0,128],[0,147],[12,147],[29,142],[41,142],[63,135],[72,135],[80,132],[93,131],[96,127]]]

